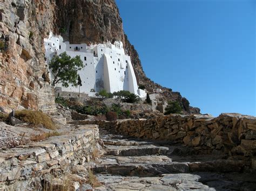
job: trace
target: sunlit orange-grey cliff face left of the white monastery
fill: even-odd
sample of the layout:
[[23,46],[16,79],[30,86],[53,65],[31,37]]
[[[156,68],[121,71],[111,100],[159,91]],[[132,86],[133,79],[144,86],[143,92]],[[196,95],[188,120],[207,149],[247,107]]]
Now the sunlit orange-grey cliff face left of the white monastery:
[[43,46],[54,7],[46,0],[0,2],[0,106],[56,110]]

